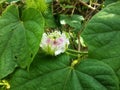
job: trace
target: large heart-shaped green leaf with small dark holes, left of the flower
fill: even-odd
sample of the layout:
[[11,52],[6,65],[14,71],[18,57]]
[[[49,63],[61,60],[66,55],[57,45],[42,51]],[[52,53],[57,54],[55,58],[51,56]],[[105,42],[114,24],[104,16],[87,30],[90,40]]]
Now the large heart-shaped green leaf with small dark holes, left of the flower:
[[18,8],[9,6],[0,17],[0,79],[17,65],[28,66],[38,51],[43,33],[42,15],[26,9],[19,16]]

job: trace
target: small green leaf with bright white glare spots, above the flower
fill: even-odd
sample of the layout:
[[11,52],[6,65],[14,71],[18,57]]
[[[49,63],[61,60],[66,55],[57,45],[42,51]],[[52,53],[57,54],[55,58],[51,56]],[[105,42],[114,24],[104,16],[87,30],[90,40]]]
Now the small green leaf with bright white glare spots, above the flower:
[[61,15],[60,16],[60,22],[61,24],[68,24],[74,30],[79,31],[81,29],[81,22],[84,20],[83,16],[80,15],[72,15],[72,16],[67,16],[67,15]]

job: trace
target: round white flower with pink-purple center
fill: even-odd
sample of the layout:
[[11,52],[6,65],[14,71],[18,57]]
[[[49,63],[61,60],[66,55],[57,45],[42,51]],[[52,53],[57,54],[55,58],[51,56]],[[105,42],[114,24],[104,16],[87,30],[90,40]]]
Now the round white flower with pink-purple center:
[[40,47],[47,54],[59,55],[65,52],[69,45],[69,38],[65,33],[55,31],[49,34],[43,33]]

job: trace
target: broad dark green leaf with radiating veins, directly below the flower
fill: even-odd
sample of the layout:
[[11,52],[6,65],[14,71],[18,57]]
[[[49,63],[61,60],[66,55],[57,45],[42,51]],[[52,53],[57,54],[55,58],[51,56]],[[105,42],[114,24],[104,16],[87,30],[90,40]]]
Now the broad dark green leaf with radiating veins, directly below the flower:
[[114,71],[98,60],[83,60],[71,67],[67,55],[39,55],[30,71],[17,70],[10,90],[119,90]]

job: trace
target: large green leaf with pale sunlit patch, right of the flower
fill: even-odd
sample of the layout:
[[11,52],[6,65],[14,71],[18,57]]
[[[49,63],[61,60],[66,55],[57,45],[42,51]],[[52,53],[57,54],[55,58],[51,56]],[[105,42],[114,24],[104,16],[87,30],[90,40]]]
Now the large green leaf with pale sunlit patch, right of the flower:
[[89,57],[106,62],[115,72],[120,71],[119,8],[120,2],[108,5],[90,20],[82,33],[89,48]]

